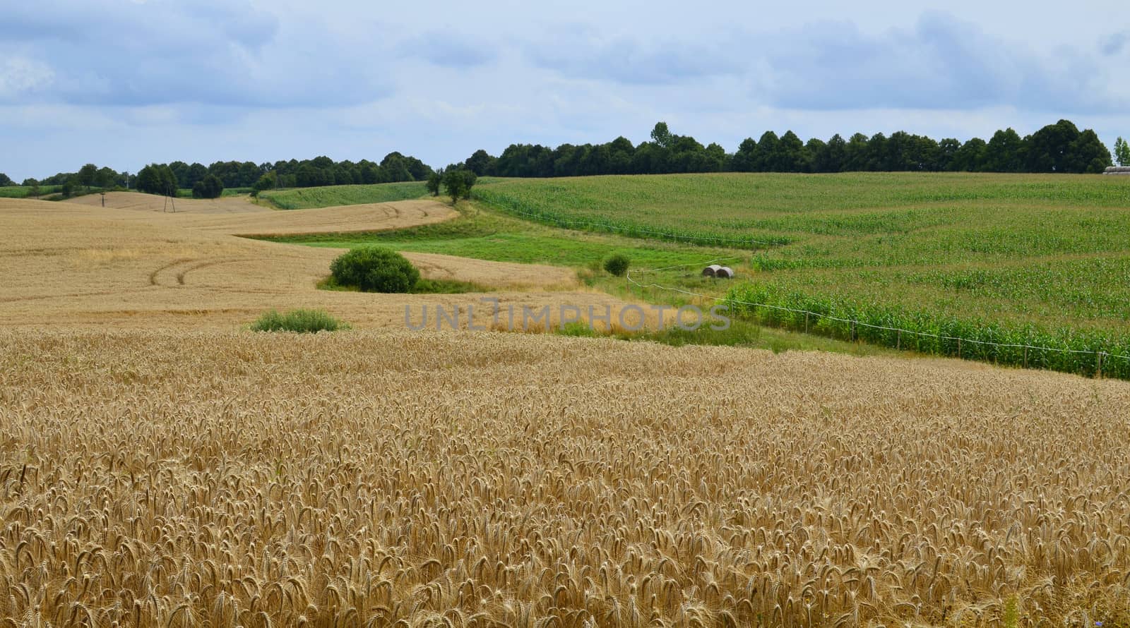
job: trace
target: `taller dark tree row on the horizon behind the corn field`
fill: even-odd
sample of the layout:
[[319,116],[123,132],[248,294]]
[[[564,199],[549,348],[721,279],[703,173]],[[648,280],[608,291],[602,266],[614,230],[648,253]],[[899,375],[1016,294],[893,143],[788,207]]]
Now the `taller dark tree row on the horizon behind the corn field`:
[[[1130,162],[1130,155],[1127,159]],[[651,141],[638,146],[624,137],[608,143],[564,143],[557,148],[513,143],[497,157],[477,150],[453,167],[466,167],[479,176],[551,177],[710,172],[1102,173],[1110,165],[1111,151],[1093,130],[1079,131],[1071,121],[1060,120],[1026,137],[1006,129],[989,141],[972,138],[965,142],[904,131],[889,137],[855,133],[847,139],[835,134],[827,141],[812,138],[803,142],[792,131],[780,137],[766,131],[757,140],[747,138],[736,152],[677,136],[660,122]]]

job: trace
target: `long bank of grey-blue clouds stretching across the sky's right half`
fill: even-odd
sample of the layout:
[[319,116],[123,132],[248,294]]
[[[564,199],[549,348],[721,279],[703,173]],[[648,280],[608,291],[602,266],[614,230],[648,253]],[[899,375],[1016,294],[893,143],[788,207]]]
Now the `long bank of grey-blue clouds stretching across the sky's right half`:
[[[946,14],[910,29],[864,33],[852,21],[815,21],[773,33],[703,38],[603,38],[566,29],[527,42],[536,67],[621,85],[671,85],[741,77],[755,101],[806,111],[1016,106],[1025,111],[1124,108],[1103,62],[1079,49],[1042,54]],[[1113,53],[1125,40],[1112,38]]]

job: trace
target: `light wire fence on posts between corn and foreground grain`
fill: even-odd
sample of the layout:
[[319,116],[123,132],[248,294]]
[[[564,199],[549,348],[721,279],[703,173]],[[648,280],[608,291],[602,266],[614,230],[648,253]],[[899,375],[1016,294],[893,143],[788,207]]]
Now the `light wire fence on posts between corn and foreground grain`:
[[[713,263],[718,263],[718,262],[731,261],[731,260],[740,260],[740,259],[742,259],[742,258],[737,258],[737,256],[736,258],[721,258],[721,259],[716,259],[716,260],[710,260],[710,261],[706,261],[706,262],[703,262],[703,263],[699,263],[699,264],[676,264],[676,265],[663,267],[663,268],[637,270],[637,271],[635,271],[635,273],[636,274],[645,274],[645,273],[654,273],[654,272],[660,272],[660,271],[676,270],[676,269],[680,269],[680,268],[706,267],[706,265],[710,265],[710,264],[713,264]],[[654,282],[653,284],[642,284],[640,281],[636,281],[636,279],[633,278],[632,274],[633,274],[633,271],[631,271],[631,270],[626,274],[626,279],[627,279],[628,284],[631,286],[635,286],[637,288],[641,288],[641,290],[651,288],[651,289],[654,289],[654,290],[663,290],[663,291],[667,291],[667,293],[676,293],[676,294],[680,294],[680,295],[688,296],[688,297],[695,297],[695,298],[701,298],[701,299],[705,299],[705,300],[713,300],[713,302],[718,302],[718,303],[722,303],[722,304],[742,305],[742,306],[751,308],[755,312],[756,312],[757,308],[762,308],[762,309],[766,309],[766,311],[770,311],[770,312],[784,312],[784,313],[794,314],[794,315],[798,315],[798,316],[805,316],[805,328],[806,328],[805,331],[806,331],[806,333],[809,332],[809,321],[810,320],[815,320],[815,321],[822,321],[823,320],[823,321],[831,321],[831,322],[835,322],[835,323],[841,323],[841,324],[849,325],[849,329],[851,330],[850,331],[850,339],[853,340],[853,341],[860,339],[859,338],[859,332],[858,332],[858,330],[860,330],[860,329],[864,329],[864,330],[869,329],[869,330],[881,331],[881,332],[889,332],[889,333],[897,334],[897,340],[896,340],[897,344],[894,348],[899,349],[899,350],[904,349],[904,347],[902,346],[902,337],[903,337],[903,334],[905,334],[905,335],[909,335],[911,338],[929,338],[929,339],[937,340],[939,342],[946,341],[946,342],[950,342],[950,343],[956,343],[956,346],[957,346],[957,357],[959,357],[959,358],[964,357],[964,356],[962,356],[962,344],[963,343],[965,343],[965,344],[972,344],[974,347],[991,347],[991,348],[998,349],[998,350],[999,349],[1011,349],[1011,350],[1023,351],[1023,354],[1024,354],[1023,364],[1019,364],[1019,363],[1017,363],[1017,364],[1018,365],[1023,365],[1026,368],[1028,367],[1028,361],[1029,361],[1028,360],[1028,355],[1029,355],[1029,351],[1031,352],[1040,352],[1040,354],[1053,352],[1053,354],[1064,354],[1064,355],[1087,355],[1087,356],[1093,356],[1094,357],[1094,369],[1089,374],[1093,374],[1096,377],[1101,377],[1103,375],[1103,363],[1104,361],[1106,361],[1106,364],[1110,366],[1111,363],[1109,360],[1121,360],[1121,361],[1125,363],[1124,366],[1130,366],[1130,356],[1122,355],[1122,354],[1114,354],[1114,352],[1110,352],[1110,351],[1092,350],[1092,349],[1068,349],[1068,348],[1049,347],[1049,346],[1042,346],[1042,344],[992,342],[992,341],[986,341],[986,340],[976,340],[976,339],[973,339],[973,338],[948,335],[948,334],[942,334],[942,333],[931,333],[931,332],[919,331],[919,330],[909,330],[909,329],[898,328],[898,326],[878,325],[878,324],[872,324],[872,323],[867,323],[867,322],[863,322],[863,321],[859,321],[858,319],[847,319],[847,317],[834,316],[834,315],[831,315],[831,314],[820,313],[820,312],[814,312],[814,311],[810,311],[810,309],[798,309],[798,308],[793,308],[793,307],[786,307],[786,306],[781,306],[781,305],[773,305],[773,304],[768,304],[768,303],[754,303],[754,302],[749,302],[749,300],[744,300],[744,299],[734,298],[731,295],[727,295],[724,297],[719,297],[719,296],[705,295],[705,294],[702,294],[702,293],[696,293],[694,290],[688,290],[688,289],[685,289],[685,288],[679,288],[679,287],[675,287],[675,286],[663,286],[663,285],[654,284]],[[889,343],[886,343],[886,344],[889,346]],[[911,349],[911,347],[910,347],[909,343],[905,346],[905,348],[906,349]],[[931,351],[931,352],[938,352],[938,351]],[[945,355],[953,355],[953,352],[947,352]],[[970,359],[970,358],[966,357],[966,359]],[[1033,360],[1033,361],[1035,361],[1035,360]],[[1055,370],[1059,370],[1059,369],[1055,369]],[[1119,369],[1119,370],[1122,370],[1122,369]],[[1109,375],[1118,376],[1120,378],[1130,378],[1130,377],[1125,376],[1124,374],[1118,374],[1118,375],[1115,375],[1114,373],[1111,372],[1111,369],[1109,369],[1107,374]]]

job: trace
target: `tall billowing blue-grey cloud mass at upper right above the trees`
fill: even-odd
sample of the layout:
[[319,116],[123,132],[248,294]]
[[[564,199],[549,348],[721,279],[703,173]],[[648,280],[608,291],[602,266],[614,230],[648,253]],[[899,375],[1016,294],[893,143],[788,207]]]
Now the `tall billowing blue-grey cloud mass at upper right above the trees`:
[[759,78],[766,99],[800,110],[868,107],[1096,112],[1123,105],[1103,86],[1101,64],[1066,49],[1055,58],[927,14],[913,30],[864,35],[822,24],[777,37]]

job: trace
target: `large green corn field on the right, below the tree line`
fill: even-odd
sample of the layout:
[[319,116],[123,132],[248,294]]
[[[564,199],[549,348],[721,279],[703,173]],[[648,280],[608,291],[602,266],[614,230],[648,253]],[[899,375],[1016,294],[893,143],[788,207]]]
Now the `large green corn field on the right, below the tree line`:
[[[1130,355],[1130,181],[1122,177],[601,176],[498,180],[476,189],[476,197],[498,211],[549,224],[786,242],[731,262],[748,281],[731,290],[736,302],[990,342]],[[657,278],[679,286],[696,270]],[[750,308],[748,314],[805,326],[802,320],[772,312]],[[849,328],[825,331],[879,340]],[[888,340],[903,342],[895,335]],[[912,347],[977,354],[977,346],[953,344]],[[1093,355],[1053,365],[1049,356],[980,354],[1062,370],[1098,366]],[[1130,363],[1124,366],[1130,374]],[[1112,368],[1109,363],[1104,370]]]

